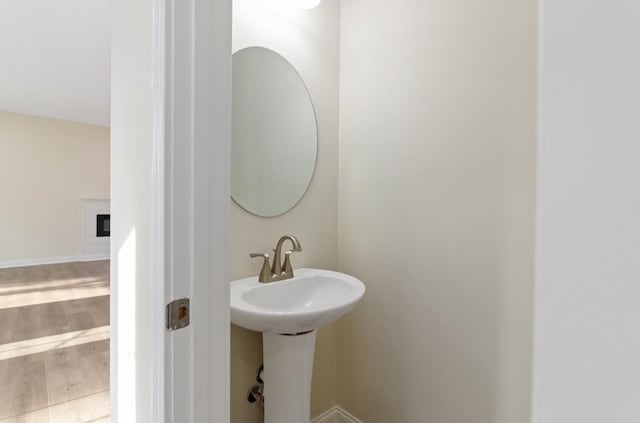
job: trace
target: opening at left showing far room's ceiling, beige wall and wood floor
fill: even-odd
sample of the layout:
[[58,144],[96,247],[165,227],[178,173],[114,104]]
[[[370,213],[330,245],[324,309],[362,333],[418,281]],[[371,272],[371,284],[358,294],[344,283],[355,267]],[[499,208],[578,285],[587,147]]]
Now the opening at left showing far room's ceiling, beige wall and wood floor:
[[108,422],[111,4],[26,3],[0,17],[0,422]]

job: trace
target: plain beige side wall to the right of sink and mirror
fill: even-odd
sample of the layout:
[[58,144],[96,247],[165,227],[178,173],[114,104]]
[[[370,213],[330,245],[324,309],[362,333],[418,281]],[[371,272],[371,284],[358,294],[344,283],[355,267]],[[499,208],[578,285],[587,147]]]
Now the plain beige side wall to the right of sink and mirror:
[[341,10],[338,401],[367,423],[529,421],[536,2]]

